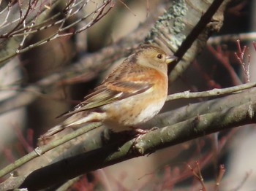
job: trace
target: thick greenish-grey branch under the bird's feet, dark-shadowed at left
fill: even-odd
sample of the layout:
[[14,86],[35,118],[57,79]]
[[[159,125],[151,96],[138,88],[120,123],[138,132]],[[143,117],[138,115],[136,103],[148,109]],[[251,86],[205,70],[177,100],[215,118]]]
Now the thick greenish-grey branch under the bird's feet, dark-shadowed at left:
[[[151,154],[165,147],[195,139],[238,125],[256,122],[256,103],[246,103],[222,110],[192,117],[159,130],[153,130],[139,139],[124,144],[110,144],[106,147],[69,157],[31,173],[21,187],[37,190],[58,182],[67,181],[80,174],[120,163],[133,157]],[[54,180],[49,177],[54,177]]]

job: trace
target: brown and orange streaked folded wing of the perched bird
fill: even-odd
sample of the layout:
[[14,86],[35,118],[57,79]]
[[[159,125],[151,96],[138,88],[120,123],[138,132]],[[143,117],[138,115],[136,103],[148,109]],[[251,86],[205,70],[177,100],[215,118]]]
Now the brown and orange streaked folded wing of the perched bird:
[[[136,74],[132,74],[134,72]],[[121,74],[121,71],[119,74]],[[126,77],[124,77],[124,75],[116,76],[110,74],[101,85],[95,88],[93,93],[87,95],[74,109],[61,114],[61,116],[69,116],[88,109],[95,109],[99,106],[104,106],[113,103],[114,101],[119,101],[132,95],[143,93],[153,86],[146,80],[143,72],[132,71],[132,69],[129,68],[129,71],[126,71],[126,74],[128,74]],[[143,80],[143,78],[145,80]]]

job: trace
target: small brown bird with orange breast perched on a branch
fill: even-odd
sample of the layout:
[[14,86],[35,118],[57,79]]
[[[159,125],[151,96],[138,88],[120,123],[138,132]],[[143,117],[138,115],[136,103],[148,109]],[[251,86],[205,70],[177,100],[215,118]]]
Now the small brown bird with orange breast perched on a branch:
[[87,95],[63,114],[67,120],[48,130],[42,138],[64,128],[101,121],[118,132],[138,128],[154,117],[167,97],[167,64],[176,60],[159,47],[142,45]]

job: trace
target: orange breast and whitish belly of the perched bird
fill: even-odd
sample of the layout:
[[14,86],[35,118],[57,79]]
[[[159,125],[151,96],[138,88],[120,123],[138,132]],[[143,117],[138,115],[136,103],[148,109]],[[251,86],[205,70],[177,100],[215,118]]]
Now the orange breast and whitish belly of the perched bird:
[[154,69],[146,73],[132,75],[128,80],[149,82],[152,84],[150,89],[104,106],[108,114],[108,120],[105,121],[108,128],[119,131],[129,126],[139,125],[150,120],[162,109],[167,96],[167,75]]

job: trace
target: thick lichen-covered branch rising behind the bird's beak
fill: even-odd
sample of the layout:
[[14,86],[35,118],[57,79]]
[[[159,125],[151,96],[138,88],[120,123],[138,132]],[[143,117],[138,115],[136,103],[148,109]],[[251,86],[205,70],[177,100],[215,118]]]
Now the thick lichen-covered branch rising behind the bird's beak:
[[159,17],[148,40],[176,52],[182,58],[178,65],[172,64],[170,82],[185,71],[205,47],[211,34],[222,27],[223,12],[229,0],[173,1],[167,12]]

